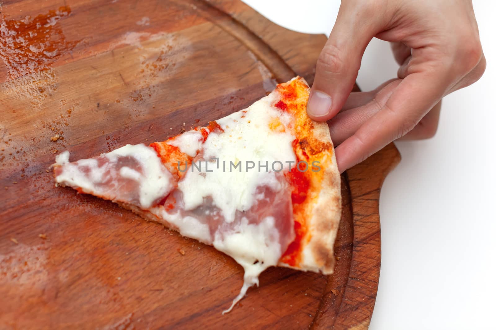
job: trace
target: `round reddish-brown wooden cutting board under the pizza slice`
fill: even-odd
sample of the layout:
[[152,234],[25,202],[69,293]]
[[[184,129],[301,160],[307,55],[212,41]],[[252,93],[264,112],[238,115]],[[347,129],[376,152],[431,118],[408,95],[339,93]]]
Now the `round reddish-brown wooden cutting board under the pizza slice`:
[[240,1],[3,0],[0,10],[0,329],[368,327],[379,190],[400,159],[392,144],[342,177],[335,274],[268,269],[224,316],[242,285],[234,260],[55,188],[48,170],[62,150],[78,159],[163,141],[297,74],[311,84],[323,35]]

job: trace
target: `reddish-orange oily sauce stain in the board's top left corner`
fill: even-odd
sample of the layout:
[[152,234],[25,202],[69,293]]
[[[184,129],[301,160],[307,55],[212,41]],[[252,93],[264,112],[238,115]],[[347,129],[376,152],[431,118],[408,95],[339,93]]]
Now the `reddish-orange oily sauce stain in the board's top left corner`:
[[0,14],[0,57],[10,78],[40,72],[77,45],[77,41],[65,40],[57,24],[70,12],[68,6],[62,6],[35,18],[25,16],[20,20],[5,19]]

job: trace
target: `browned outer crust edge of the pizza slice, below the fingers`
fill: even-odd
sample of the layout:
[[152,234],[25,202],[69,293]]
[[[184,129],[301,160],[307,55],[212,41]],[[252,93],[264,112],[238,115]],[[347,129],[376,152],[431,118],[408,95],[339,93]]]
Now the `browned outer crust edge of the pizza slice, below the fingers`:
[[303,78],[296,77],[280,84],[278,89],[296,119],[297,156],[309,162],[318,160],[321,167],[320,172],[310,173],[311,185],[304,212],[295,213],[296,218],[304,218],[295,220],[304,222],[307,227],[299,263],[288,265],[281,262],[280,266],[332,274],[335,263],[333,247],[341,219],[341,176],[329,127],[325,122],[316,122],[308,117],[310,87]]

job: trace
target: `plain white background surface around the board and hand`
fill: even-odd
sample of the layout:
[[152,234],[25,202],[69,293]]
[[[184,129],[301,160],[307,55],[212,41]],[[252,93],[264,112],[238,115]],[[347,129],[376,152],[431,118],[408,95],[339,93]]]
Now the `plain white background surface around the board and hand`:
[[[340,3],[244,1],[288,29],[326,35]],[[380,195],[382,265],[371,330],[496,329],[495,9],[492,0],[474,1],[484,76],[444,98],[433,139],[396,143],[402,160]],[[396,70],[389,45],[374,39],[358,84],[372,90]]]

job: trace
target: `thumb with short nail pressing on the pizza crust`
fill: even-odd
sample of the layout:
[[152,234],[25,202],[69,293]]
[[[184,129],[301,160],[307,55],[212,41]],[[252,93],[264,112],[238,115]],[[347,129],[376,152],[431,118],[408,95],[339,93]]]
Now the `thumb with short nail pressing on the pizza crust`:
[[317,59],[307,112],[316,121],[334,117],[351,93],[365,48],[376,29],[373,15],[361,6],[342,1],[336,23]]

